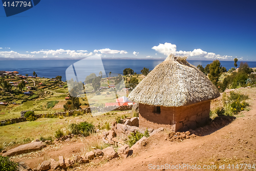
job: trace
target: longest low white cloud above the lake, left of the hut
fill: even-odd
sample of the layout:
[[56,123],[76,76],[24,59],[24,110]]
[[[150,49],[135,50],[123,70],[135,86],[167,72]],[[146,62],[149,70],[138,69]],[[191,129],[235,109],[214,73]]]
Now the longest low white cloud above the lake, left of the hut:
[[56,57],[57,54],[66,54],[66,55],[69,55],[69,56],[72,56],[72,57],[91,56],[91,55],[93,55],[92,52],[90,52],[90,53],[82,53],[82,52],[77,53],[74,50],[63,50],[63,49],[58,49],[58,50],[40,50],[40,51],[34,51],[34,52],[30,52],[30,53],[33,53],[33,54],[39,54],[39,53],[46,54],[44,57],[48,57],[48,55],[53,55],[54,57]]

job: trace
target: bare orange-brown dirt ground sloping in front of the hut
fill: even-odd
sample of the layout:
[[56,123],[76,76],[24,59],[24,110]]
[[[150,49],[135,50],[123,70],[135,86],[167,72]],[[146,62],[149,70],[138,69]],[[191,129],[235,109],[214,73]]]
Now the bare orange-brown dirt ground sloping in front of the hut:
[[[78,165],[68,170],[152,170],[157,165],[167,165],[169,168],[153,170],[205,170],[203,166],[211,167],[206,170],[250,170],[245,169],[245,164],[255,164],[256,169],[256,88],[241,90],[249,95],[250,111],[242,112],[229,124],[218,128],[210,127],[202,136],[186,139],[182,142],[169,141],[168,132],[160,132],[149,138],[149,143],[141,148],[139,153],[127,158],[116,158],[110,161],[92,160],[89,164]],[[210,125],[208,125],[210,126]],[[25,161],[34,168],[42,161],[59,155],[72,158],[73,155],[81,154],[90,140],[99,140],[98,136],[90,136],[84,139],[72,139],[48,146],[40,152],[20,155],[13,158],[15,161]],[[167,140],[165,140],[167,139]],[[49,148],[49,149],[48,149]],[[190,165],[189,167],[177,167],[176,165]],[[219,168],[220,165],[224,169]],[[229,164],[234,164],[228,168]],[[243,164],[241,165],[237,164]],[[166,166],[165,165],[165,166]],[[176,166],[172,169],[172,166]],[[193,169],[194,165],[194,169]],[[201,169],[195,169],[200,165]],[[214,168],[216,166],[216,168]],[[239,169],[236,168],[239,166]],[[247,166],[248,167],[248,166]]]

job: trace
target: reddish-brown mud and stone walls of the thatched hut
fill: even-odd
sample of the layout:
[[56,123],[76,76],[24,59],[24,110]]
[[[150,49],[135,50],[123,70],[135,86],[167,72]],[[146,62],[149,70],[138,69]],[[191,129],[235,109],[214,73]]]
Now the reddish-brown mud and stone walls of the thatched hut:
[[139,126],[158,129],[166,127],[172,131],[187,131],[203,125],[209,119],[210,100],[180,107],[160,107],[139,104]]

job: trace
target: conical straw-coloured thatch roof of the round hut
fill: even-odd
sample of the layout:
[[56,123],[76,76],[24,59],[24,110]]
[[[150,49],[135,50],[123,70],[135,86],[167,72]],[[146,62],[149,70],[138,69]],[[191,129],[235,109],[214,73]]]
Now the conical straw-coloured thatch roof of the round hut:
[[129,99],[157,106],[183,106],[220,96],[218,89],[186,57],[169,55],[130,93]]

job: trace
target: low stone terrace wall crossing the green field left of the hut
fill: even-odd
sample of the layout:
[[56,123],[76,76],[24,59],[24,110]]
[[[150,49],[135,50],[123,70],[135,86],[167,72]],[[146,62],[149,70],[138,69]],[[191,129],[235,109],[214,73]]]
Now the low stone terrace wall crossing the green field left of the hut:
[[[108,112],[108,111],[127,111],[127,110],[132,110],[133,105],[122,105],[122,106],[107,106],[103,109],[100,109],[98,107],[93,107],[92,109],[90,108],[84,108],[81,110],[72,110],[72,111],[67,111],[67,112],[56,112],[52,115],[59,117],[59,116],[72,116],[74,112],[80,111],[83,112],[84,114],[89,114],[91,113],[91,110],[97,111],[97,112]],[[47,114],[35,114],[37,118],[41,117],[46,117]],[[3,125],[8,125],[8,124],[13,124],[13,123],[19,123],[19,122],[25,122],[27,119],[25,117],[19,117],[19,118],[12,118],[12,119],[6,119],[6,120],[1,120],[0,121],[0,126]]]

